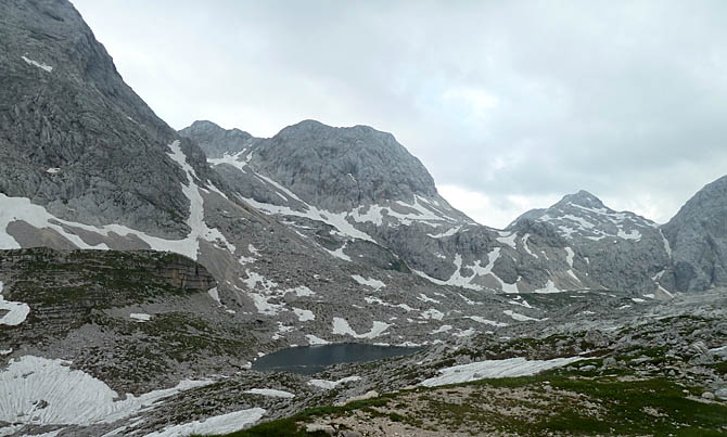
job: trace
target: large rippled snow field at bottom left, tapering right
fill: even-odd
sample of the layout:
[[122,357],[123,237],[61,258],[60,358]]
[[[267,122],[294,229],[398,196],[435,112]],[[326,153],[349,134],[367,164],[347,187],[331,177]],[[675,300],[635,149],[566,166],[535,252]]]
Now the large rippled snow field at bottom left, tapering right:
[[[37,425],[91,425],[127,417],[153,402],[212,381],[182,381],[174,388],[119,400],[116,391],[69,361],[25,356],[0,373],[0,422]],[[48,403],[39,408],[40,401]]]

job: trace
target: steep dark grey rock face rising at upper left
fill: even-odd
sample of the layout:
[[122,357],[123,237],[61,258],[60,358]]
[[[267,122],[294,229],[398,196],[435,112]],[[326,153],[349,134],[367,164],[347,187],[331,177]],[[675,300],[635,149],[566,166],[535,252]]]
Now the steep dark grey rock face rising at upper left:
[[[178,136],[123,81],[69,2],[0,4],[0,193],[88,224],[189,231],[187,179],[167,155]],[[203,173],[200,150],[181,147]]]

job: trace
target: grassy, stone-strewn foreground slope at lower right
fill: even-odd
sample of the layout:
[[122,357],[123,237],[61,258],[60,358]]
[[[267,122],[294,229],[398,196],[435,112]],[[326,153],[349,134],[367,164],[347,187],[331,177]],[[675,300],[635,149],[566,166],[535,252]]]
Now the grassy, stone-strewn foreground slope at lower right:
[[[319,404],[232,435],[727,435],[724,298],[724,292],[688,297],[615,330],[481,335],[467,346],[331,369],[322,376],[364,377],[356,388],[329,393],[330,407]],[[688,314],[678,313],[679,308]],[[557,329],[554,323],[549,327]],[[533,376],[418,384],[449,365],[574,354],[584,359]]]

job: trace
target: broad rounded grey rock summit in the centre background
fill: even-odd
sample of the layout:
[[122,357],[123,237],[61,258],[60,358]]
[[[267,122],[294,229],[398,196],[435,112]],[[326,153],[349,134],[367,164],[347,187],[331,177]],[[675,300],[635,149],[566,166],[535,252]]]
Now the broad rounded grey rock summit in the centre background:
[[350,210],[395,201],[411,204],[416,196],[438,198],[434,179],[422,163],[393,134],[369,126],[341,128],[303,120],[270,139],[235,136],[206,124],[194,126],[180,134],[197,141],[208,158],[237,154],[238,164],[226,164],[250,166],[324,209]]

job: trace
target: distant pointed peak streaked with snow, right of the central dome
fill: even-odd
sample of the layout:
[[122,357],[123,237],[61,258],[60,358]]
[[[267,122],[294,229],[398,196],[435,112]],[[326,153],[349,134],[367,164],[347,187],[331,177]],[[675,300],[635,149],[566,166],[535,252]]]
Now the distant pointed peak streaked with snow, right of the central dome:
[[584,285],[642,294],[674,291],[671,249],[658,224],[615,211],[587,191],[527,211],[507,229],[562,247]]

